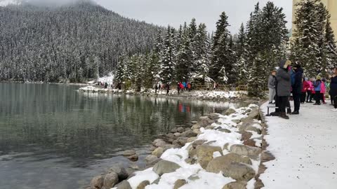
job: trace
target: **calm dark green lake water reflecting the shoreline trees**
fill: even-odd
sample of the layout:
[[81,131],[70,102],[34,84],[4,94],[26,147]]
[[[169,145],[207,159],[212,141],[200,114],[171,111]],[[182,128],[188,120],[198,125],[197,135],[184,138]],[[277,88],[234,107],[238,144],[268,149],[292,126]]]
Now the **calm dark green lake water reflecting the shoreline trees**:
[[78,85],[0,83],[0,188],[76,189],[158,134],[229,104],[78,92]]

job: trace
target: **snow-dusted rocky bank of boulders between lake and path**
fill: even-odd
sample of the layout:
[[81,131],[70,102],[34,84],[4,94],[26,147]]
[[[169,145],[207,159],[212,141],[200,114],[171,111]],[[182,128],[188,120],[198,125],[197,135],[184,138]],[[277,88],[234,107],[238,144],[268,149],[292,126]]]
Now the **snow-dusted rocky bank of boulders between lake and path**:
[[95,177],[91,188],[254,188],[261,130],[258,106],[253,104],[230,108],[225,115],[201,116],[192,127],[174,128],[154,140],[143,171],[112,169]]

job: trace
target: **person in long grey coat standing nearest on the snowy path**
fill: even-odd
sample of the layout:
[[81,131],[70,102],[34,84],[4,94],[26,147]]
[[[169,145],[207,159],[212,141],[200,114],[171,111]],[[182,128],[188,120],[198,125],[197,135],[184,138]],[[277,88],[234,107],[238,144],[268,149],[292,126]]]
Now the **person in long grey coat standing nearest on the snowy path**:
[[277,96],[279,100],[279,117],[289,119],[286,116],[286,104],[289,101],[291,90],[291,75],[288,67],[291,65],[290,60],[281,60],[279,62],[279,69],[277,69]]

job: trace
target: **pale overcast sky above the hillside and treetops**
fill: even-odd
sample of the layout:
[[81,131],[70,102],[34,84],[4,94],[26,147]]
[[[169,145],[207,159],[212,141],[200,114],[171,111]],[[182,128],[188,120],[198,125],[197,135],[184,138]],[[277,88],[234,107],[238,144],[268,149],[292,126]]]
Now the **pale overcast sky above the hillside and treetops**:
[[[128,18],[135,18],[155,25],[172,25],[178,28],[183,22],[196,18],[206,23],[209,31],[216,29],[220,13],[229,17],[230,31],[237,33],[240,25],[246,25],[249,14],[259,1],[264,6],[268,0],[95,0],[101,6]],[[284,8],[287,27],[291,28],[292,0],[271,0]]]

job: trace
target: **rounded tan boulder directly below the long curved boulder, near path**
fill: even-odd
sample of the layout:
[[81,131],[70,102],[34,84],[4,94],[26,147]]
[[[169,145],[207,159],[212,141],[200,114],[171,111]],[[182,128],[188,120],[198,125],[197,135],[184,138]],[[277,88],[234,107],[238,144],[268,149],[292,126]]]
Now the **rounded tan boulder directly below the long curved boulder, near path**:
[[223,176],[231,177],[237,181],[250,181],[255,176],[255,171],[251,166],[241,162],[232,162],[222,170]]

